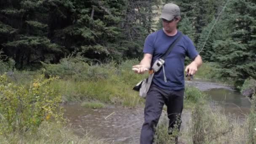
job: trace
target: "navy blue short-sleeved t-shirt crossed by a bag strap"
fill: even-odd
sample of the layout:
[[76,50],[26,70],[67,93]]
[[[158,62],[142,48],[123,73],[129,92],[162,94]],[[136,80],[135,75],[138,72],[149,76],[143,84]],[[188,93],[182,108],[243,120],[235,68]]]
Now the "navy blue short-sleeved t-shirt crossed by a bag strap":
[[[148,35],[145,43],[143,53],[152,54],[151,67],[157,59],[160,59],[167,51],[171,43],[182,33],[177,32],[174,36],[168,36],[163,29],[153,32]],[[183,35],[178,43],[173,47],[171,53],[165,58],[165,76],[167,83],[164,81],[163,67],[155,73],[153,83],[163,89],[181,90],[184,89],[184,60],[185,56],[190,59],[195,59],[198,55],[192,40]]]

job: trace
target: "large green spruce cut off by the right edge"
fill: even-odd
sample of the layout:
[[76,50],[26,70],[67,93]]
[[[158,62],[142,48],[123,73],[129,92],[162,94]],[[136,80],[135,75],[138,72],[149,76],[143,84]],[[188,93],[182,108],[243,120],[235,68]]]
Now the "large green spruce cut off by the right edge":
[[[252,0],[235,0],[230,5],[230,36],[214,45],[214,59],[221,67],[222,76],[235,80],[235,85],[243,84],[247,77],[256,78],[255,62],[255,11]],[[254,12],[253,12],[254,11]]]

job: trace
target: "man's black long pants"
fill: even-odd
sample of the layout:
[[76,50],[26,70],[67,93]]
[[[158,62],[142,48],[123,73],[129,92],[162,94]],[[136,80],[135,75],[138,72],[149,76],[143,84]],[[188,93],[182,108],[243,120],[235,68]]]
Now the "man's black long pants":
[[[181,116],[183,109],[184,89],[169,91],[157,87],[152,83],[146,97],[144,109],[145,122],[142,125],[140,144],[152,144],[155,136],[155,128],[163,110],[163,105],[167,106],[169,118],[169,128],[173,128],[176,118]],[[181,117],[179,128],[181,125]]]

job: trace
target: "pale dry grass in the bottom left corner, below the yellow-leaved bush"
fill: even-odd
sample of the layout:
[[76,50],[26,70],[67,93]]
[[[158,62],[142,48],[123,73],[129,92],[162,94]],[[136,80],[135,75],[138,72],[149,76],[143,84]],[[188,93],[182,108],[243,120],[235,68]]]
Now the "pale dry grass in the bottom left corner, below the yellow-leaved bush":
[[63,127],[58,123],[43,123],[37,133],[24,133],[24,135],[0,135],[0,144],[106,144],[89,134],[80,137],[73,133],[69,126]]

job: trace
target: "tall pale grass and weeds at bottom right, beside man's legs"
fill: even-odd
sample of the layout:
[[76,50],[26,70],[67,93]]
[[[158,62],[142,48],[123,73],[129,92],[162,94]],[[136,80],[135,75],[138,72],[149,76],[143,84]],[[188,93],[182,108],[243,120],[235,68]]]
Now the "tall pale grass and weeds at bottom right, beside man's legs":
[[[189,123],[178,133],[179,141],[185,144],[256,144],[256,99],[251,113],[245,117],[225,115],[221,107],[212,109],[208,96],[196,88],[186,88],[187,99],[184,106],[191,109]],[[254,96],[254,95],[253,95]],[[188,104],[188,106],[186,106]],[[174,138],[168,134],[168,117],[157,125],[156,144],[174,144]]]

